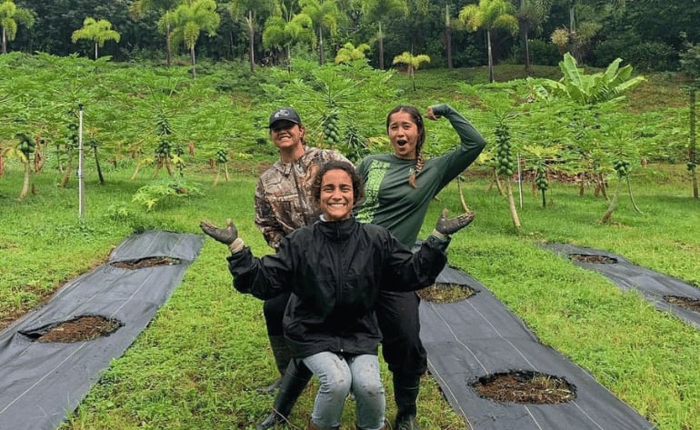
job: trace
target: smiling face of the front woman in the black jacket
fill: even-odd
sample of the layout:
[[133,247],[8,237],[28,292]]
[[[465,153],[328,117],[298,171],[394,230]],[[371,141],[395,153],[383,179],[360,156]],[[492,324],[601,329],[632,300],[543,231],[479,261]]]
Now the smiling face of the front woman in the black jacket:
[[353,179],[345,170],[328,170],[321,179],[318,202],[326,221],[348,219],[355,203]]

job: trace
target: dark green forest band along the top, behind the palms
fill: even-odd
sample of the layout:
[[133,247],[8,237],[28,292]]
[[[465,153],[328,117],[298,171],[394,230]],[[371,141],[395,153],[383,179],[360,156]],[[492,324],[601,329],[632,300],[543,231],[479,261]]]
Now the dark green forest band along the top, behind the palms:
[[[197,56],[215,61],[246,61],[252,51],[257,65],[282,64],[286,48],[262,43],[265,26],[271,20],[275,27],[292,21],[306,23],[302,27],[309,31],[309,37],[287,38],[284,42],[291,45],[298,42],[299,52],[293,55],[322,62],[333,62],[335,54],[346,43],[352,43],[370,46],[366,56],[375,67],[390,65],[395,55],[405,51],[430,56],[431,67],[445,67],[449,35],[450,65],[486,65],[489,55],[485,27],[469,33],[457,19],[466,6],[477,3],[468,0],[220,1],[216,2],[220,25],[212,37],[197,41]],[[511,0],[506,3],[517,10],[521,32],[520,35],[511,34],[512,29],[491,32],[490,45],[496,64],[524,63],[525,37],[531,43],[530,63],[553,65],[551,54],[556,46],[550,37],[557,29],[565,32],[570,41],[566,48],[579,61],[600,67],[621,57],[640,70],[677,70],[685,42],[700,43],[697,25],[700,3],[695,0]],[[92,56],[94,47],[89,42],[74,45],[70,40],[90,16],[109,20],[121,35],[118,44],[108,42],[101,48],[104,55],[120,61],[163,61],[166,57],[163,18],[167,11],[175,12],[178,2],[15,0],[15,4],[30,11],[35,23],[31,27],[19,26],[15,40],[8,44],[10,51]],[[139,13],[132,13],[134,10]],[[450,19],[445,19],[445,15]],[[298,31],[292,33],[298,34]],[[173,48],[175,54],[184,55],[180,61],[189,62],[185,59],[189,55],[184,44]]]

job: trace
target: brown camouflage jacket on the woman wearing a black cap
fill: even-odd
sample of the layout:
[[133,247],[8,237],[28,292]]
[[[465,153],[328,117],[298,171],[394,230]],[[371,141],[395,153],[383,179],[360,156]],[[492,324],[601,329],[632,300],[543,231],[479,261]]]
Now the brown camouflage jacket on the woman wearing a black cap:
[[318,218],[311,185],[318,166],[330,160],[348,161],[334,150],[305,146],[301,158],[292,163],[277,160],[260,176],[255,187],[255,225],[267,245],[276,249],[285,235]]

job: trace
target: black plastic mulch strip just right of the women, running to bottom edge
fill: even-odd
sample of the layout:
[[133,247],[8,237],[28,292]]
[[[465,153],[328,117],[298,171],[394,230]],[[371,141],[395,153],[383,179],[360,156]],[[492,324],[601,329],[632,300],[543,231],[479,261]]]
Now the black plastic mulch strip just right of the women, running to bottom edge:
[[[475,295],[456,303],[420,305],[421,338],[430,373],[447,401],[473,430],[645,430],[645,418],[583,368],[542,345],[522,320],[485,285],[446,267],[438,283],[467,285]],[[575,399],[555,405],[515,404],[482,398],[472,387],[480,377],[537,372],[564,378]]]

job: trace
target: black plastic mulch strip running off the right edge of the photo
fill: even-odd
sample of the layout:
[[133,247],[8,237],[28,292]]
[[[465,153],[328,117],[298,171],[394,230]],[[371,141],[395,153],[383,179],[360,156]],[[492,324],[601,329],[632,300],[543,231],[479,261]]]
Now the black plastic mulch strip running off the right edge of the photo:
[[[630,263],[622,255],[575,245],[546,244],[543,246],[555,254],[571,260],[575,265],[605,275],[624,291],[630,288],[639,291],[656,309],[669,312],[685,323],[700,329],[700,312],[676,305],[665,299],[665,297],[674,296],[700,300],[699,288],[675,277]],[[582,255],[584,258],[581,258]],[[593,263],[595,258],[586,259],[585,256],[602,256],[604,258],[600,260],[606,263]]]

